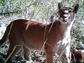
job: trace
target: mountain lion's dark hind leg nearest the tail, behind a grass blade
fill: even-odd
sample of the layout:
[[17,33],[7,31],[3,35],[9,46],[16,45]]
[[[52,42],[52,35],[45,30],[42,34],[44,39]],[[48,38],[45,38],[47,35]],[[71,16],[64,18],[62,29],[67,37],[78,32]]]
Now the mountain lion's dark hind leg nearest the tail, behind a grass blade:
[[[8,61],[7,61],[7,63],[12,63],[12,58],[13,58],[14,55],[21,49],[21,47],[22,47],[21,45],[10,44],[6,58],[8,58],[11,53],[12,53],[12,54],[10,55],[10,57],[9,57],[9,59],[8,59]],[[13,50],[14,50],[14,51],[13,51]]]

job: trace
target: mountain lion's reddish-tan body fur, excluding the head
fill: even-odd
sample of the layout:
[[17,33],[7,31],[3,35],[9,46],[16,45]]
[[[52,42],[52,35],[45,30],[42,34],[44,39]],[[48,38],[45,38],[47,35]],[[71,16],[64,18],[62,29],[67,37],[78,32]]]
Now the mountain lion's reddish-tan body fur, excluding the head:
[[[71,15],[74,17],[74,14],[75,13],[72,12]],[[13,26],[10,30],[12,23],[13,23]],[[13,48],[17,46],[15,51],[9,58],[8,62],[22,47],[24,49],[24,57],[28,60],[30,50],[41,50],[45,37],[47,38],[47,41],[45,43],[44,50],[46,53],[47,63],[53,63],[53,54],[59,53],[59,49],[60,49],[60,52],[62,52],[63,50],[62,48],[64,48],[67,43],[68,43],[68,46],[70,47],[70,29],[71,29],[72,22],[63,24],[60,21],[56,21],[53,23],[50,33],[48,32],[52,23],[46,26],[46,24],[30,21],[29,28],[26,30],[27,24],[28,24],[28,20],[18,19],[11,22],[7,26],[6,32],[2,40],[0,40],[0,44],[4,43],[5,40],[7,39],[7,35],[10,30],[10,34],[9,34],[10,47],[8,50],[7,57],[9,56]],[[67,33],[68,35],[66,35],[66,31],[68,30],[69,26],[70,26],[70,29],[69,29],[69,32]],[[45,27],[46,27],[46,31],[45,31]],[[44,36],[44,33],[45,33],[45,36]],[[63,55],[66,59],[68,58],[66,53],[63,53]],[[67,59],[67,62],[69,63],[68,59]]]

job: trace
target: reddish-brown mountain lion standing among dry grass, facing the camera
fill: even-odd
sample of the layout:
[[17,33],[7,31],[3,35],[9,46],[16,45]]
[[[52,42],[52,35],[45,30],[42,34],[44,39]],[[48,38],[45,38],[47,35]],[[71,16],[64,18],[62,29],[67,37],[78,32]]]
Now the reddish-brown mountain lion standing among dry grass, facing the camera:
[[[41,50],[44,45],[46,53],[46,62],[53,63],[53,54],[57,53],[61,56],[62,63],[70,63],[70,30],[74,22],[74,16],[77,13],[79,5],[74,7],[64,7],[62,3],[58,3],[58,21],[46,24],[30,21],[29,27],[26,30],[29,20],[18,19],[11,22],[5,31],[3,38],[0,40],[0,45],[3,44],[9,34],[9,50],[6,58],[10,55],[13,48],[14,52],[8,59],[10,63],[13,56],[23,47],[24,57],[29,60],[30,50]],[[13,24],[13,25],[12,25]],[[50,27],[53,24],[51,30]],[[12,25],[12,27],[11,27]],[[46,30],[45,30],[46,28]],[[50,30],[50,32],[49,32]],[[45,44],[44,44],[45,43]]]

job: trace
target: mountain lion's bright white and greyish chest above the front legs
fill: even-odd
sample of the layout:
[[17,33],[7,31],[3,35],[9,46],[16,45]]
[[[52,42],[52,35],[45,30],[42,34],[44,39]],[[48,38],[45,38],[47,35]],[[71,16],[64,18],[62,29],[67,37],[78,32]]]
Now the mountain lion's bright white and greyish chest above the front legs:
[[67,30],[64,33],[63,39],[60,39],[59,41],[56,42],[53,51],[60,54],[63,50],[69,49],[70,40],[71,40],[70,31]]

